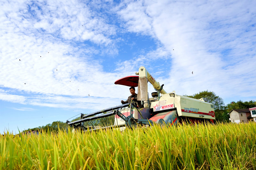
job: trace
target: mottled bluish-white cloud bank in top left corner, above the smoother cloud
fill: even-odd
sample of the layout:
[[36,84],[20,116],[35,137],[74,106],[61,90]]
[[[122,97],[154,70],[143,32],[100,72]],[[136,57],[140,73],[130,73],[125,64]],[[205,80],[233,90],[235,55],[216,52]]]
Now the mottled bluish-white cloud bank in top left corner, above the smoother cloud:
[[[16,6],[16,3],[11,1],[3,5]],[[4,10],[3,15],[7,16],[5,22],[9,20],[12,24],[11,26],[4,24],[3,27],[7,29],[16,27],[18,28],[16,30],[23,34],[28,32],[53,34],[53,36],[60,35],[60,38],[65,40],[83,41],[81,37],[89,32],[92,35],[89,41],[103,45],[112,43],[109,36],[116,34],[115,26],[106,23],[100,17],[93,16],[92,10],[84,3],[20,1],[15,11]]]

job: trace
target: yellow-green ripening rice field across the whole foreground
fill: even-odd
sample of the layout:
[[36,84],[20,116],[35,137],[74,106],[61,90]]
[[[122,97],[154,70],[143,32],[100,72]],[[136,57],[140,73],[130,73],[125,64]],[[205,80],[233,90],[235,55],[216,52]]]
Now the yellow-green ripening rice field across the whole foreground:
[[256,169],[256,123],[0,137],[2,169]]

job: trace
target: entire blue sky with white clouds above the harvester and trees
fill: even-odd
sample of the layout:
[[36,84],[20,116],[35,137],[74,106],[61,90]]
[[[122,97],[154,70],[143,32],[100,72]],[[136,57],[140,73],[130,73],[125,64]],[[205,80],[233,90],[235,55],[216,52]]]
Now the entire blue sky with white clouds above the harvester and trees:
[[140,66],[167,92],[256,100],[256,1],[0,4],[1,134],[119,105]]

